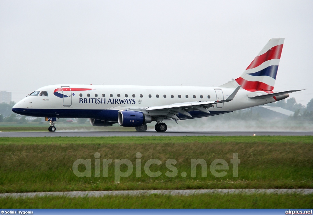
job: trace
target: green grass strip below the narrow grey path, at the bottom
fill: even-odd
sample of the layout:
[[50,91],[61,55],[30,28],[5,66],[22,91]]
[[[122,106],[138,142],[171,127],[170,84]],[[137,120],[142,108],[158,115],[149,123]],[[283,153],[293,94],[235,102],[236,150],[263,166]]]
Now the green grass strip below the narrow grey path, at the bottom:
[[1,208],[311,208],[313,195],[200,194],[192,196],[105,196],[0,198]]

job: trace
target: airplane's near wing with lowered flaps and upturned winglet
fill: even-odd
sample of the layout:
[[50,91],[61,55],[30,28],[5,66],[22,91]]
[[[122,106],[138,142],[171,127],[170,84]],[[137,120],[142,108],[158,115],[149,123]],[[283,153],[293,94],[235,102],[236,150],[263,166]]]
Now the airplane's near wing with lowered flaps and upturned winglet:
[[140,111],[147,115],[151,115],[155,117],[163,117],[169,120],[174,120],[174,119],[179,120],[179,118],[177,117],[178,113],[192,117],[192,115],[188,113],[188,111],[191,111],[191,110],[199,110],[204,113],[210,114],[207,108],[213,107],[214,104],[228,102],[228,101],[233,100],[233,98],[239,91],[240,87],[241,86],[238,86],[233,91],[233,93],[230,96],[228,96],[227,99],[221,100],[221,101],[203,101],[203,102],[193,101],[193,102],[176,103],[176,104],[171,104],[171,105],[144,107],[144,108],[139,108],[139,109],[130,108],[127,110]]

